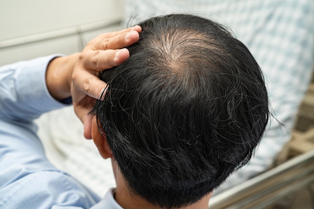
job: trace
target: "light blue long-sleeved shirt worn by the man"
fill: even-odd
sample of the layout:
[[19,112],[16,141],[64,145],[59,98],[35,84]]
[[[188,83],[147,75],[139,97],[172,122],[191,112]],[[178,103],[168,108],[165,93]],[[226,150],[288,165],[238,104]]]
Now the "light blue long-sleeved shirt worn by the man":
[[0,67],[0,208],[115,208],[114,189],[101,200],[46,158],[33,120],[66,106],[46,87],[54,56]]

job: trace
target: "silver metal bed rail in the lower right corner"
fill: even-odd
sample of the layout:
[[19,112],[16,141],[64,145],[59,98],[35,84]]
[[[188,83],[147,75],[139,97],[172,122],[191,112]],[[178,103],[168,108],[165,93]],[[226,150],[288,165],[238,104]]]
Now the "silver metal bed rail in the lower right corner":
[[260,209],[314,182],[314,150],[210,199],[210,209]]

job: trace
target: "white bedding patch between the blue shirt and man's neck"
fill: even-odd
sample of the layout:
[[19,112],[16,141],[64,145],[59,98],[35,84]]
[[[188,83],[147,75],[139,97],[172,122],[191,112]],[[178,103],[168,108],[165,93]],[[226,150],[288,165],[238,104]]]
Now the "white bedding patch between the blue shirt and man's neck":
[[110,159],[103,159],[93,141],[84,138],[83,124],[72,106],[46,113],[36,123],[52,164],[100,196],[115,187]]

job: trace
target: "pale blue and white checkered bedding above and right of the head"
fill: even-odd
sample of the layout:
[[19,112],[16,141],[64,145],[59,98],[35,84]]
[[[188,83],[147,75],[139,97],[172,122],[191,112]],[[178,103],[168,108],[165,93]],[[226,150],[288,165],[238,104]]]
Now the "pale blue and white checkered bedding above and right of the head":
[[199,15],[228,27],[259,63],[273,113],[286,125],[272,120],[251,162],[218,193],[268,169],[289,140],[314,64],[314,1],[126,0],[125,26],[171,13]]

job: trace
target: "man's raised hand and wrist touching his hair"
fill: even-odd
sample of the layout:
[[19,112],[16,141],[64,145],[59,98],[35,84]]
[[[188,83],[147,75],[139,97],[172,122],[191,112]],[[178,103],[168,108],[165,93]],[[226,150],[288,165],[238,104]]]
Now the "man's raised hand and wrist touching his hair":
[[99,73],[120,65],[129,52],[123,47],[139,39],[141,28],[135,26],[118,32],[101,34],[90,41],[81,53],[54,59],[46,74],[51,95],[62,100],[72,96],[74,111],[84,124],[84,137],[91,139],[92,116],[88,113],[107,86]]

